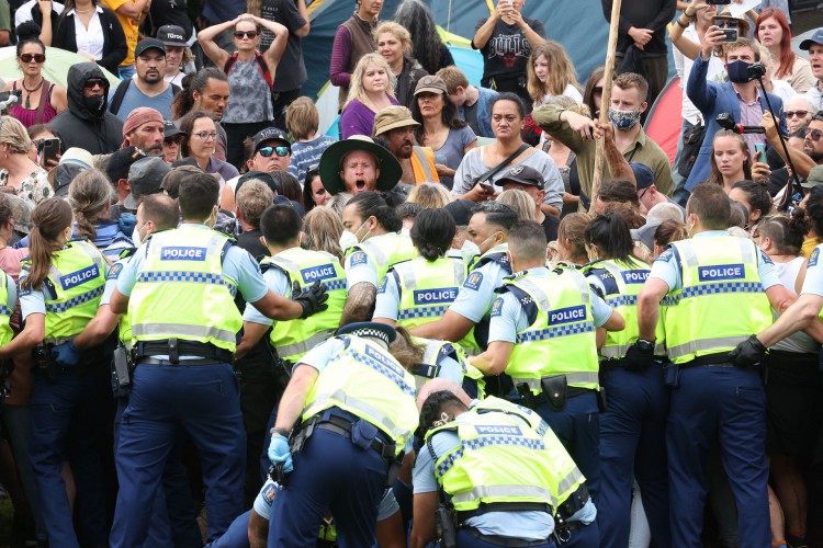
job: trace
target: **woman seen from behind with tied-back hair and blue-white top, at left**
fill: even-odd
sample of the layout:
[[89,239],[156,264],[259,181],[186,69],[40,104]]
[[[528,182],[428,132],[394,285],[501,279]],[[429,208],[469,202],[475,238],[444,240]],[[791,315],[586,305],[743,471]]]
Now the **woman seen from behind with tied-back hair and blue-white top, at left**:
[[124,249],[134,248],[117,220],[110,218],[112,190],[102,171],[91,169],[77,175],[69,185],[68,202],[75,215],[75,238],[87,238],[111,261]]

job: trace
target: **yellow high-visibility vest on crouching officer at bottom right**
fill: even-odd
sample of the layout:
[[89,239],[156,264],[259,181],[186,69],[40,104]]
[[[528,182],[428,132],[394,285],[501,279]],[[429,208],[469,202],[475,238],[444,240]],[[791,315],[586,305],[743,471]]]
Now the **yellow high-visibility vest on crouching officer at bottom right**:
[[566,454],[562,445],[548,446],[543,436],[514,414],[470,410],[426,434],[430,452],[431,438],[446,431],[460,441],[436,455],[435,476],[458,512],[494,503],[545,504],[550,512],[556,507],[561,477],[572,472],[555,469],[556,459]]

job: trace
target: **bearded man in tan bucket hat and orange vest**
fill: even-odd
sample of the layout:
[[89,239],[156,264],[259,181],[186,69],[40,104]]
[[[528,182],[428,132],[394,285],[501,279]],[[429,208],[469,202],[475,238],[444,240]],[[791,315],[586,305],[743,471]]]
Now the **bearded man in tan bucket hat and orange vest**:
[[[374,116],[374,138],[388,149],[403,168],[402,183],[439,183],[435,169],[435,152],[429,147],[415,145],[419,126],[405,106],[386,106]],[[382,142],[381,142],[382,141]]]

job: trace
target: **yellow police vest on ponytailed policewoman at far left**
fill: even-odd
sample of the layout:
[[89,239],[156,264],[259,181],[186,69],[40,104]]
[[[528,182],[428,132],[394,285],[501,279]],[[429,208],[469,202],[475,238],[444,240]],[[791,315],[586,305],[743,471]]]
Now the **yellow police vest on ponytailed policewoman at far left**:
[[[23,263],[27,269],[29,261]],[[72,240],[52,254],[47,282],[54,298],[46,292],[46,331],[44,341],[61,344],[80,334],[97,315],[105,288],[105,264],[98,249]]]

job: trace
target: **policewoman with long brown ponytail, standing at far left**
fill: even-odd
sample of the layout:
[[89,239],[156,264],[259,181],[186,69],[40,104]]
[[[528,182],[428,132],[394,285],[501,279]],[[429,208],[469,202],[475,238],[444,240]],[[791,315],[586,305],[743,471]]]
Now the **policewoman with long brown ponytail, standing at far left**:
[[[37,346],[30,452],[48,544],[103,546],[108,530],[98,444],[108,372],[100,347],[80,351],[72,340],[97,312],[108,266],[94,246],[71,240],[68,202],[44,199],[32,221],[31,254],[20,275],[25,327],[0,347],[0,358]],[[77,484],[77,532],[60,477],[67,457]]]

